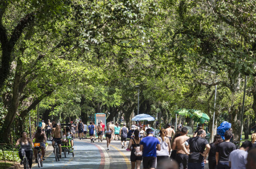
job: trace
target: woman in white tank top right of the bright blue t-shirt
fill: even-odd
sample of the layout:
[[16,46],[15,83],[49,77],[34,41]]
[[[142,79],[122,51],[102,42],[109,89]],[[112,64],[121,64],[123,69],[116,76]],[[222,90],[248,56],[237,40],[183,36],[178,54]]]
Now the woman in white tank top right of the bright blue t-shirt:
[[[171,125],[170,125],[171,126]],[[162,128],[160,130],[160,137],[158,140],[160,142],[160,151],[157,151],[157,169],[160,166],[161,160],[165,160],[169,158],[169,154],[171,151],[171,142],[168,137],[166,137],[166,130]]]

